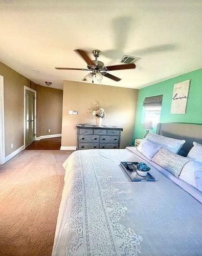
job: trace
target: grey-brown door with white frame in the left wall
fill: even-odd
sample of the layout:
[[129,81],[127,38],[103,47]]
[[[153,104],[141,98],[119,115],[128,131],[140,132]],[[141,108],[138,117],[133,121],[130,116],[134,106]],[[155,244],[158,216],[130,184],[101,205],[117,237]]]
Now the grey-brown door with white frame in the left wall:
[[24,144],[29,146],[36,140],[36,91],[24,87]]

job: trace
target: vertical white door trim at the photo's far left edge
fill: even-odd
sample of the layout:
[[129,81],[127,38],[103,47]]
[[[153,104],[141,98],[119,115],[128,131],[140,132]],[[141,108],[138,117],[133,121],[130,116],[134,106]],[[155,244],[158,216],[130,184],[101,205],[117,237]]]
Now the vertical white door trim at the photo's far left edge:
[[0,75],[0,164],[5,163],[4,77]]

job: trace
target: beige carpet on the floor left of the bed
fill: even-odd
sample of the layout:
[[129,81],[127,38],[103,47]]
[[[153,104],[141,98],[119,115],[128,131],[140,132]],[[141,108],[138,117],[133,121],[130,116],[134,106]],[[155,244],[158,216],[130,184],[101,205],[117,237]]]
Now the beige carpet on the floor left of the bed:
[[51,255],[72,151],[23,151],[0,166],[0,255]]

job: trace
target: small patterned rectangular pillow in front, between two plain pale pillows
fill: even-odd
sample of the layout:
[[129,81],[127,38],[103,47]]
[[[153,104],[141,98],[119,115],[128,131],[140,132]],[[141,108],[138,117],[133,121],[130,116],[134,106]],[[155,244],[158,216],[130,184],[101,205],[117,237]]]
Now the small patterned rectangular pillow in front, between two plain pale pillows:
[[162,147],[151,159],[175,177],[179,177],[184,165],[189,162],[189,158],[182,157]]

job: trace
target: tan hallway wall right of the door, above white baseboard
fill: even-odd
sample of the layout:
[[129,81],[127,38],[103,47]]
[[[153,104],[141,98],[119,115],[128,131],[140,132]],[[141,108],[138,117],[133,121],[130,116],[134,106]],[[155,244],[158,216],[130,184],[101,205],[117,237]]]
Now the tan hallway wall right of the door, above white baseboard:
[[[63,91],[37,85],[37,137],[60,134]],[[48,130],[51,129],[49,133]]]

